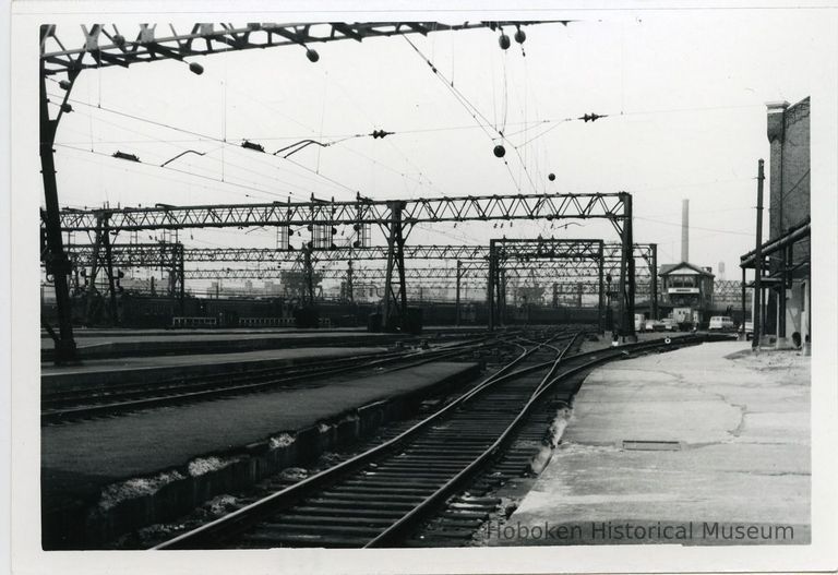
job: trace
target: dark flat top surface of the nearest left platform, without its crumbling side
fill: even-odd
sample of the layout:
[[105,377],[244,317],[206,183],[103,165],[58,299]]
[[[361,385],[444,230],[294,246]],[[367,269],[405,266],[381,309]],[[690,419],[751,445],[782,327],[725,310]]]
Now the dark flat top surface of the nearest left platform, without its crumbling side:
[[406,394],[475,368],[433,362],[314,388],[201,404],[41,428],[45,505],[89,498],[111,482],[184,467],[190,459],[265,441]]

